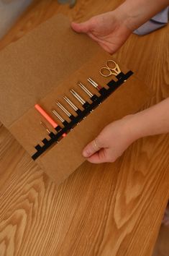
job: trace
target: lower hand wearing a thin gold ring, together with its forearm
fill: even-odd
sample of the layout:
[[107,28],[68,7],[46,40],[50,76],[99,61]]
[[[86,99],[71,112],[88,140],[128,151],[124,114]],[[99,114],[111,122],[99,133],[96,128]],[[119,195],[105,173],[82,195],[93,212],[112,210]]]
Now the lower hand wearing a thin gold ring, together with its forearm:
[[169,98],[155,106],[107,125],[83,149],[91,163],[114,162],[135,140],[169,132]]

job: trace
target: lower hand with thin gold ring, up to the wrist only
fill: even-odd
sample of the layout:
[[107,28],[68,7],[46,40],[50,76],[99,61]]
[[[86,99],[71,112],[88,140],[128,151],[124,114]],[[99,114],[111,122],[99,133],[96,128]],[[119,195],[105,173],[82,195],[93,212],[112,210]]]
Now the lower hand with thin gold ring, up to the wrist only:
[[114,121],[107,125],[95,140],[83,150],[83,156],[91,163],[114,162],[129,145],[137,140],[133,131],[132,116]]

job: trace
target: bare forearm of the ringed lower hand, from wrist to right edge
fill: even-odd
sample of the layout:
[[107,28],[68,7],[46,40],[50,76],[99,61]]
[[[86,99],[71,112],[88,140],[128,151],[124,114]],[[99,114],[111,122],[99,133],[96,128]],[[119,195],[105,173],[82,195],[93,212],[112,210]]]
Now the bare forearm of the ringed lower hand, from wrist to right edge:
[[169,132],[169,98],[158,103],[145,111],[131,116],[128,122],[130,134],[134,140]]

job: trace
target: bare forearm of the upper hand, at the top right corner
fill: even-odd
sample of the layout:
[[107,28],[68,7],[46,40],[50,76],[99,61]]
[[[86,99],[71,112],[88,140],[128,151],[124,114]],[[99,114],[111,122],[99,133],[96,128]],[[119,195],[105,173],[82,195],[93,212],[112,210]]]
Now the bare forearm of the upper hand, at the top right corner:
[[168,5],[169,0],[126,0],[117,12],[123,13],[125,24],[133,31]]

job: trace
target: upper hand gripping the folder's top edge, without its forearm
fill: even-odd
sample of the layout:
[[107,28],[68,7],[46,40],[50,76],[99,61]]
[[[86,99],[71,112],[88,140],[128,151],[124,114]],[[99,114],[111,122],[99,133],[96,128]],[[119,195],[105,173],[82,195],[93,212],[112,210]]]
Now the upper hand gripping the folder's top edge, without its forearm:
[[77,33],[86,33],[99,45],[113,54],[127,40],[132,30],[129,30],[125,14],[114,10],[92,17],[83,23],[71,23],[71,27]]

